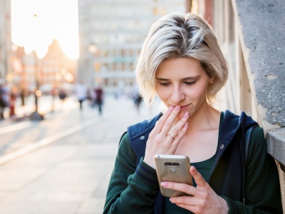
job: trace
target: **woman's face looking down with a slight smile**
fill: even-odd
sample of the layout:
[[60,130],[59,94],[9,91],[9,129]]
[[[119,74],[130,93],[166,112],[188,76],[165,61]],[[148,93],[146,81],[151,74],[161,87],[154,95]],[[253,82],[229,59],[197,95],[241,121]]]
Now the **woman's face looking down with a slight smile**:
[[193,58],[170,58],[155,73],[156,92],[163,103],[180,105],[178,118],[188,111],[190,116],[207,106],[207,86],[214,78],[207,76],[199,61]]

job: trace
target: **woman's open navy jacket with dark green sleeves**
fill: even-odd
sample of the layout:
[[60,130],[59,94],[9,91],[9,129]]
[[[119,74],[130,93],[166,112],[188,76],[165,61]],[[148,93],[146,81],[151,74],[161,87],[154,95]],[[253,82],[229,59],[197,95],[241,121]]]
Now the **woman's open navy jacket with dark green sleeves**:
[[[160,116],[130,126],[122,136],[103,213],[163,213],[156,172],[142,160],[148,134]],[[262,128],[254,129],[250,141],[246,205],[242,203],[239,145],[244,130],[255,124],[245,113],[224,113],[209,185],[227,201],[229,213],[282,213],[279,176],[266,153]]]

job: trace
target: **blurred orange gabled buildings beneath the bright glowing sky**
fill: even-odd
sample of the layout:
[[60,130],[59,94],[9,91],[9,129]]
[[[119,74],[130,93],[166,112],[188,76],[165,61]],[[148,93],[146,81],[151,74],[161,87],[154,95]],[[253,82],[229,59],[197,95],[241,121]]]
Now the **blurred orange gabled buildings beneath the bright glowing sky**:
[[21,90],[29,93],[36,87],[43,93],[51,93],[52,88],[71,90],[68,84],[74,81],[77,60],[68,58],[57,40],[53,40],[41,59],[37,58],[35,51],[25,54],[23,47],[17,47],[11,61],[13,84]]

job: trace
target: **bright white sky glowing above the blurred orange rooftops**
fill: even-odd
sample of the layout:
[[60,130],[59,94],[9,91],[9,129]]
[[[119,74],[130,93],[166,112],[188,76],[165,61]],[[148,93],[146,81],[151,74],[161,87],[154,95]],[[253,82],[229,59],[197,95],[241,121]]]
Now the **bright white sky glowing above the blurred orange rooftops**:
[[78,58],[77,0],[11,0],[11,39],[26,54],[43,58],[58,39],[68,58]]

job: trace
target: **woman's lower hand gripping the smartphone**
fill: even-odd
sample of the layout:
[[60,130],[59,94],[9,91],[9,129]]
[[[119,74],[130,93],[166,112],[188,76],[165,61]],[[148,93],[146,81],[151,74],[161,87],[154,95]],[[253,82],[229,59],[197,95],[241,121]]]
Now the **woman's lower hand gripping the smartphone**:
[[197,183],[197,188],[185,183],[161,183],[164,188],[180,190],[192,195],[173,197],[170,198],[170,201],[186,210],[190,210],[192,213],[228,213],[229,206],[227,202],[214,192],[194,166],[190,167],[190,173]]

